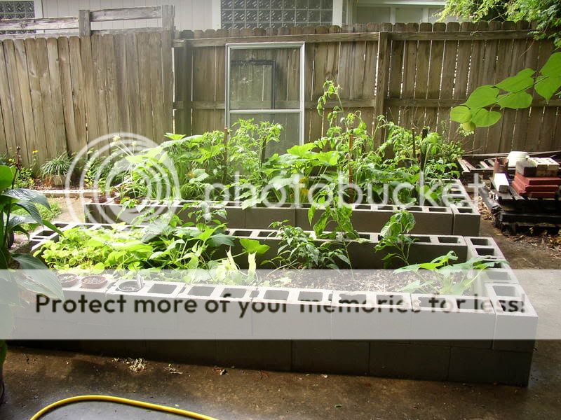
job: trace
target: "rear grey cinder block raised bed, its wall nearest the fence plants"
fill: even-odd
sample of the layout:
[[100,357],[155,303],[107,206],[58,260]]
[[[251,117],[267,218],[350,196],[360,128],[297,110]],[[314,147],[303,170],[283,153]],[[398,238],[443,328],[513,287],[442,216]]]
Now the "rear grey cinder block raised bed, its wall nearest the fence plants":
[[[410,206],[407,209],[415,217],[415,228],[413,233],[428,235],[479,235],[480,214],[478,208],[473,204],[464,186],[459,181],[454,183],[450,189],[450,197],[455,202],[450,207],[444,206]],[[112,198],[104,203],[90,202],[84,204],[86,221],[90,223],[110,223],[125,222],[132,223],[138,215],[133,209],[123,212],[121,204]],[[193,207],[189,207],[192,204]],[[184,207],[187,205],[187,208]],[[169,204],[169,206],[159,202],[150,202],[146,209],[157,212],[173,211],[182,220],[189,221],[191,209],[196,209],[198,202],[180,201]],[[217,206],[217,203],[210,203]],[[386,224],[388,219],[396,211],[403,209],[400,206],[390,204],[353,204],[353,214],[351,221],[353,227],[359,232],[379,232]],[[290,225],[298,226],[304,230],[311,230],[308,219],[310,204],[283,204],[280,207],[264,207],[257,205],[243,209],[239,202],[226,202],[224,209],[227,212],[229,228],[233,229],[266,229],[271,223],[276,221],[288,221]],[[317,220],[322,211],[316,211],[314,220]],[[314,221],[312,221],[313,223]]]

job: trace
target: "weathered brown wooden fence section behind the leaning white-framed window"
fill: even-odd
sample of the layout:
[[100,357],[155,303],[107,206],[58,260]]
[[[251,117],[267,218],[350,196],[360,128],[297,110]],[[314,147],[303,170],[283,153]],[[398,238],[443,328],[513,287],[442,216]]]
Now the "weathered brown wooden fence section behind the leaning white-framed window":
[[[407,128],[429,126],[457,137],[452,106],[479,85],[540,69],[553,52],[550,41],[532,38],[527,22],[182,31],[180,38],[174,41],[175,125],[185,134],[224,127],[226,43],[305,41],[306,139],[325,131],[316,101],[326,79],[341,85],[343,105],[362,111],[372,131],[376,116],[384,115]],[[560,113],[560,100],[535,97],[531,109],[506,110],[499,123],[476,130],[466,149],[560,149]]]

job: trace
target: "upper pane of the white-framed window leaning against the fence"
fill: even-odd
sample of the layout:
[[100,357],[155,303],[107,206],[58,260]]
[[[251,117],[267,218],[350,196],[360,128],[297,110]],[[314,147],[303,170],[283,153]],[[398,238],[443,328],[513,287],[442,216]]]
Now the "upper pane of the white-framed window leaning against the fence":
[[299,109],[300,49],[232,49],[230,109]]

